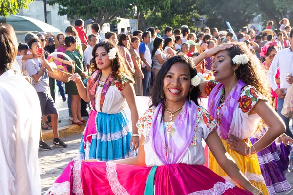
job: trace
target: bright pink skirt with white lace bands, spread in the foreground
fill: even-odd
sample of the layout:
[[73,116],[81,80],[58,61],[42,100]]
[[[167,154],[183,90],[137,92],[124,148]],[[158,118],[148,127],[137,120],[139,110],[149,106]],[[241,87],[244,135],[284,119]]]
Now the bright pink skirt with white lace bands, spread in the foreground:
[[[144,195],[151,167],[74,160],[45,195]],[[156,195],[251,195],[202,165],[157,167]]]

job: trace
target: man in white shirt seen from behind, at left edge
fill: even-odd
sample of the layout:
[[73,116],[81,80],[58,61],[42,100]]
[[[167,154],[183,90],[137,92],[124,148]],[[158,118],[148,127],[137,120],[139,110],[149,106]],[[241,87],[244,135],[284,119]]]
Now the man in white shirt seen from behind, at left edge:
[[0,25],[0,37],[0,194],[40,195],[39,98],[34,87],[11,70],[17,54],[13,28]]

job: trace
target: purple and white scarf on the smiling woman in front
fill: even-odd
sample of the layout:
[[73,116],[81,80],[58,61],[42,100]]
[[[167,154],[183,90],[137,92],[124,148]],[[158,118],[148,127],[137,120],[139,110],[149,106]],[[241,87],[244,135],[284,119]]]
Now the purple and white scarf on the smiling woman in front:
[[190,146],[196,126],[197,106],[193,101],[186,101],[175,120],[170,137],[167,139],[162,113],[164,108],[159,104],[155,110],[149,138],[156,155],[164,165],[176,164]]

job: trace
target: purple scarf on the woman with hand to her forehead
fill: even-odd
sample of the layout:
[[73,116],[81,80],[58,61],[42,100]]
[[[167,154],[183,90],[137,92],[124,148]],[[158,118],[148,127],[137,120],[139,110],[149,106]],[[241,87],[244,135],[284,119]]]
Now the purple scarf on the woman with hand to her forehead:
[[245,86],[246,84],[242,80],[238,81],[230,94],[227,96],[224,105],[219,112],[219,115],[217,115],[217,110],[221,98],[224,95],[224,85],[222,83],[219,83],[210,92],[208,100],[208,111],[212,115],[212,117],[214,117],[218,122],[218,130],[221,132],[221,136],[223,139],[228,138],[228,133],[233,119],[233,113],[238,106],[238,100],[241,95],[241,90]]

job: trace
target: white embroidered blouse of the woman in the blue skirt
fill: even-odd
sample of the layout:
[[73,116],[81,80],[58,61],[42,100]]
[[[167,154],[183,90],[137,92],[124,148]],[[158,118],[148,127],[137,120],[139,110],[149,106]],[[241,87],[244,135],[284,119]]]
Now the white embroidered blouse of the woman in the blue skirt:
[[[95,77],[95,74],[97,74],[97,71],[91,75],[90,79],[93,79]],[[111,86],[109,87],[105,96],[102,111],[100,110],[100,96],[104,86],[104,82],[99,81],[99,85],[97,89],[96,105],[95,105],[96,111],[107,113],[107,114],[120,113],[126,107],[126,99],[124,98],[122,94],[122,90],[124,86],[126,85],[126,83],[129,81],[131,82],[131,79],[128,78],[126,74],[123,74],[122,81],[114,80],[111,83]],[[90,106],[91,108],[93,108],[93,105],[91,105],[91,103],[90,103]]]

